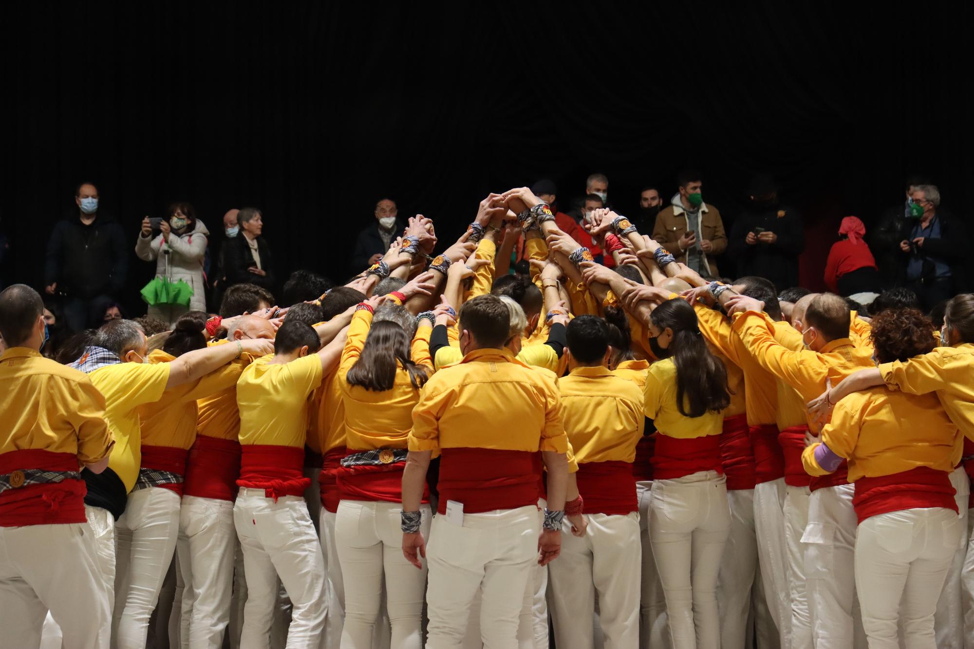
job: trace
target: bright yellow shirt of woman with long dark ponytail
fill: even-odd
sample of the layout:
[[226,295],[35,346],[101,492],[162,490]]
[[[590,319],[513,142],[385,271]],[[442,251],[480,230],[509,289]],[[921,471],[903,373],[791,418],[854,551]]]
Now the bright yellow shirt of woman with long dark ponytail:
[[[686,395],[684,409],[689,409]],[[672,359],[656,361],[650,365],[643,393],[643,410],[653,420],[656,431],[671,438],[693,439],[707,435],[720,435],[724,428],[724,415],[708,410],[699,417],[680,414],[676,402],[676,364]]]

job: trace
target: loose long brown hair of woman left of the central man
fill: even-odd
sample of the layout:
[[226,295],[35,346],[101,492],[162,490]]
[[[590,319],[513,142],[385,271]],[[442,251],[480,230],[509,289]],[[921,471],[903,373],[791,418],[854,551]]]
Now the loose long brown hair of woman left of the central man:
[[429,376],[423,366],[413,363],[410,358],[409,342],[409,336],[401,326],[390,321],[373,323],[361,356],[346,376],[349,385],[359,385],[373,392],[392,390],[397,363],[401,363],[413,388],[422,388]]

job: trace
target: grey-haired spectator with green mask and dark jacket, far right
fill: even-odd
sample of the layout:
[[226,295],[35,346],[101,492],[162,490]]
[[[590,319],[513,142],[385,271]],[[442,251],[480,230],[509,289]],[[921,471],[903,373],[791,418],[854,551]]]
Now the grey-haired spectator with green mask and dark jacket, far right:
[[922,209],[909,236],[900,242],[906,265],[906,286],[917,293],[924,312],[966,289],[967,233],[951,214],[938,211],[940,191],[918,185],[911,199]]

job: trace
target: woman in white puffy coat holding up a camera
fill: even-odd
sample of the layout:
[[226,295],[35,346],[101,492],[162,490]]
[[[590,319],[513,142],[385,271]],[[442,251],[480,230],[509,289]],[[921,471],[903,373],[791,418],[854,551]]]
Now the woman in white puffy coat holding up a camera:
[[148,315],[175,325],[187,311],[206,311],[206,281],[203,258],[209,230],[196,217],[189,203],[173,203],[159,224],[159,234],[152,236],[148,216],[142,219],[142,231],[135,242],[135,254],[143,261],[156,262],[156,277],[175,284],[182,280],[193,289],[189,306],[160,303],[149,305]]

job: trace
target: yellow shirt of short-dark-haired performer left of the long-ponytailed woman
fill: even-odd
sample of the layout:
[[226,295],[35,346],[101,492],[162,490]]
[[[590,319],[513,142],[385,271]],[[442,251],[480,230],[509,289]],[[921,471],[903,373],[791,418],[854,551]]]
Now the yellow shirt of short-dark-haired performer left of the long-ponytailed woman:
[[579,464],[632,462],[643,438],[643,391],[606,367],[576,367],[558,382],[561,416]]

